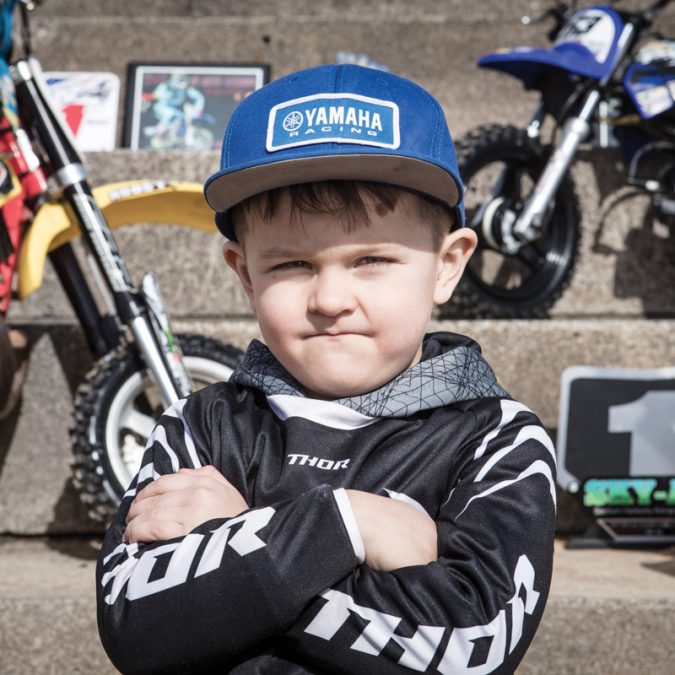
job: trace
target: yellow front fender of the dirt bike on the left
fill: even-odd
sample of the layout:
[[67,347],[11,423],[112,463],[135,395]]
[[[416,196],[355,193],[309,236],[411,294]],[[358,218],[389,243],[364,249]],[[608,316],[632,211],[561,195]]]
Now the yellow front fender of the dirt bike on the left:
[[[169,223],[215,232],[213,212],[197,183],[131,180],[92,190],[111,229],[137,223]],[[45,204],[28,228],[19,254],[19,298],[40,288],[50,251],[81,235],[62,202]]]

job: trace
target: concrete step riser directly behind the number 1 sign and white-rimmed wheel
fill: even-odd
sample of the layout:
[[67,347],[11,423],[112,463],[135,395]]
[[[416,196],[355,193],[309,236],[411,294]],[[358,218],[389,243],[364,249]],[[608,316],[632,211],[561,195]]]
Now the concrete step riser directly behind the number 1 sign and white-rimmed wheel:
[[[90,362],[78,328],[69,323],[21,324],[30,367],[21,406],[0,424],[0,533],[100,532],[71,483],[68,428],[72,400]],[[176,329],[245,347],[256,323],[181,320]],[[432,329],[477,339],[498,379],[530,406],[555,439],[560,376],[570,365],[658,368],[675,363],[673,320],[438,322]],[[39,467],[39,470],[33,470]],[[558,528],[583,529],[575,504],[561,495]]]

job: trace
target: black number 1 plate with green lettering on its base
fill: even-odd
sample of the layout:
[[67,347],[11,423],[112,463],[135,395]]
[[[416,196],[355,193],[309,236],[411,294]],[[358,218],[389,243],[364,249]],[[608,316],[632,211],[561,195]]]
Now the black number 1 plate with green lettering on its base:
[[558,484],[613,543],[675,542],[675,368],[563,372]]

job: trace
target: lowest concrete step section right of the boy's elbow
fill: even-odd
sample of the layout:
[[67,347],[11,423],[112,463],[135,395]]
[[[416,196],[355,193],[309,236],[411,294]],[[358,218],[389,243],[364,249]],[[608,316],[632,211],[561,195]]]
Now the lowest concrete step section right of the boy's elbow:
[[519,675],[671,675],[675,549],[556,546],[540,629]]

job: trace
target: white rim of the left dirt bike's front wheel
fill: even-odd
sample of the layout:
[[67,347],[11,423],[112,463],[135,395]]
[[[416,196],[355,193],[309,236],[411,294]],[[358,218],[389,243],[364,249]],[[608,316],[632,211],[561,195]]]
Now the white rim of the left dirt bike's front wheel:
[[[184,356],[185,366],[196,387],[226,382],[232,368],[212,359]],[[145,445],[155,426],[155,418],[138,408],[138,397],[155,389],[150,378],[136,371],[115,394],[105,424],[108,461],[117,481],[125,489],[141,467]]]

